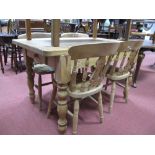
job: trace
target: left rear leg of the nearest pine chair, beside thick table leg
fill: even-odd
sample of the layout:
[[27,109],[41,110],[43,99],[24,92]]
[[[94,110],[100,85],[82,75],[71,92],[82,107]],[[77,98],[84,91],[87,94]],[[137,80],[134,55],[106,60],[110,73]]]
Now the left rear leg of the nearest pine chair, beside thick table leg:
[[73,134],[77,134],[77,126],[78,126],[78,114],[79,114],[79,100],[75,100],[74,102],[74,114],[73,114]]

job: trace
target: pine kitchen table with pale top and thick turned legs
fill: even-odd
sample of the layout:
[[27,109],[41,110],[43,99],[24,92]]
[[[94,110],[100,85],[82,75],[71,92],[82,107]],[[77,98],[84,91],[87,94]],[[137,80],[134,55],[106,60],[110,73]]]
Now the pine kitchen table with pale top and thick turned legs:
[[[56,69],[56,81],[58,87],[58,130],[65,132],[67,128],[66,114],[67,106],[67,84],[70,81],[68,78],[70,66],[70,57],[68,56],[68,49],[75,45],[82,44],[96,44],[107,42],[119,42],[112,39],[102,38],[60,38],[59,47],[51,45],[51,38],[37,38],[32,40],[27,39],[14,39],[13,44],[20,46],[24,49],[24,58],[27,68],[27,82],[29,88],[29,96],[31,102],[35,101],[34,91],[34,77],[32,65],[33,61],[44,63]],[[102,51],[101,51],[102,52]]]

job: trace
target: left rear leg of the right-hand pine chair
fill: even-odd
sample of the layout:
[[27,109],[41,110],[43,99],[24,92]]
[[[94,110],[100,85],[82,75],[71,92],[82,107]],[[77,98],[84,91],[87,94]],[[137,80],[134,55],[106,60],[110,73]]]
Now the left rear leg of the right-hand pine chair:
[[113,108],[114,98],[115,98],[115,91],[116,91],[116,82],[112,81],[109,112],[111,112],[112,108]]

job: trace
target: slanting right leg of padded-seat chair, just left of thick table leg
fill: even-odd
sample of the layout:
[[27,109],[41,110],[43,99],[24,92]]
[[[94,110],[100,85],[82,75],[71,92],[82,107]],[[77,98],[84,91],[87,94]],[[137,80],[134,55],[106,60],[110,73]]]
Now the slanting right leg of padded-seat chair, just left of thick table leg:
[[54,99],[56,97],[56,94],[57,94],[57,86],[56,86],[56,84],[53,84],[52,96],[51,96],[51,99],[50,99],[50,102],[49,102],[49,105],[48,105],[48,110],[47,110],[47,118],[49,118],[49,116],[50,116],[51,109],[52,109],[52,106],[53,106],[53,101],[54,101]]

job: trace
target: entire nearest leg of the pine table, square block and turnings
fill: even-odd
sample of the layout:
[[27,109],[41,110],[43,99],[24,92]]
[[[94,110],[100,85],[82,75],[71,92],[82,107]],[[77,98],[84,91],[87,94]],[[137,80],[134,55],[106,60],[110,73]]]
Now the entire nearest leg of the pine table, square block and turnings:
[[64,133],[67,129],[67,87],[70,81],[71,60],[68,56],[60,56],[56,69],[57,97],[58,97],[58,130]]

